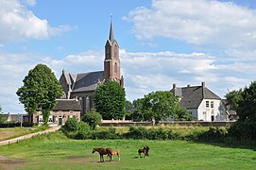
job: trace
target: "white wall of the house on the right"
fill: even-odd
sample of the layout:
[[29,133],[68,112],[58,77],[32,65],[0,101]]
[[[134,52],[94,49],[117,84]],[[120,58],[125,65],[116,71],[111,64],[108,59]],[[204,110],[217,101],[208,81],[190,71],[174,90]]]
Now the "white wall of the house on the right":
[[227,114],[221,100],[203,99],[197,109],[197,120],[227,121]]

